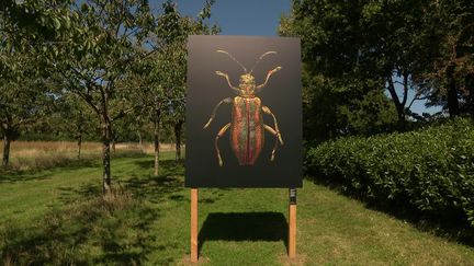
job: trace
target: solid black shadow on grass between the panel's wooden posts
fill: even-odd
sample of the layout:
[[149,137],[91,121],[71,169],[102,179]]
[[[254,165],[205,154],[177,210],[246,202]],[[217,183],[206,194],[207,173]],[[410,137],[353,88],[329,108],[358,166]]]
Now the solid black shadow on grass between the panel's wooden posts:
[[283,241],[287,250],[287,222],[281,212],[210,213],[199,232],[199,252],[207,241]]

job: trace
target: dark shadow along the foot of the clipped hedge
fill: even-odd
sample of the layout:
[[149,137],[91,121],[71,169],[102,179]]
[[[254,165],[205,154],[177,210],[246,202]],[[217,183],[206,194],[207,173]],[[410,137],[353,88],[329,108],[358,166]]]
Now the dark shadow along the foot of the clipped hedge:
[[[305,176],[305,178],[316,185],[326,186],[340,195],[357,199],[363,203],[368,209],[382,211],[398,220],[409,222],[422,232],[432,233],[451,242],[474,246],[474,229],[467,224],[465,216],[461,212],[444,215],[444,218],[441,218],[437,215],[421,212],[414,207],[410,208],[406,201],[375,200],[363,195],[354,195],[343,189],[345,184],[342,182],[329,182],[325,178],[311,176]],[[449,217],[450,220],[445,217]]]

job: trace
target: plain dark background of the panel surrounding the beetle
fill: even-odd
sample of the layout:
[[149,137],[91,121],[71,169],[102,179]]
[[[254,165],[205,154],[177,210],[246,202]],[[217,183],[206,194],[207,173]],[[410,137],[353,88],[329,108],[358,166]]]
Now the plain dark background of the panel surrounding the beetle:
[[[263,91],[257,94],[262,104],[275,115],[284,141],[270,161],[274,138],[266,134],[266,143],[255,165],[240,166],[232,151],[229,130],[219,139],[223,166],[218,165],[214,139],[222,127],[232,122],[232,104],[223,104],[206,129],[212,109],[222,100],[235,97],[223,77],[229,76],[238,86],[244,70],[217,49],[230,53],[248,71],[266,51],[276,55],[264,57],[253,70],[256,83],[276,66]],[[188,41],[187,88],[187,187],[301,187],[302,186],[302,94],[300,39],[253,36],[190,36]],[[267,125],[274,128],[271,116],[263,114]]]

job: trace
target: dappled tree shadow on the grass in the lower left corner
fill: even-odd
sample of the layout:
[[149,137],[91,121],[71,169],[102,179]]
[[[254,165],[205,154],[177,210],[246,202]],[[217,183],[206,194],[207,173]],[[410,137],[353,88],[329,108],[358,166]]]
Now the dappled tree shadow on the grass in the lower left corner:
[[155,250],[158,210],[126,193],[77,200],[29,228],[0,228],[4,265],[137,265]]

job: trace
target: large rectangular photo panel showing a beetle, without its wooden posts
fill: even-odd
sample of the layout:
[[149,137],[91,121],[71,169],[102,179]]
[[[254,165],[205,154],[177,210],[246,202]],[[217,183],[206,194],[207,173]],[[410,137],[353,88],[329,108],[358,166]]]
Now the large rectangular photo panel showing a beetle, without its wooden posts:
[[300,39],[190,36],[187,187],[301,187]]

